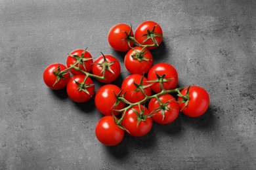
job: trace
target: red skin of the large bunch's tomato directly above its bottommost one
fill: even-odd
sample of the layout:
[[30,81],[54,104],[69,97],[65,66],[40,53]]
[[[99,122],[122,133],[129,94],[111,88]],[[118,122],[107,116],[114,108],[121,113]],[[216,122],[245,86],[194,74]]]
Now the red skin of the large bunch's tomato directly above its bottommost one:
[[[119,112],[115,110],[123,109],[125,107],[125,103],[120,102],[118,105],[114,106],[116,103],[116,95],[121,91],[121,89],[114,84],[105,84],[101,86],[95,95],[95,106],[98,111],[100,111],[104,115],[112,115],[116,116]],[[116,95],[115,95],[116,94]]]

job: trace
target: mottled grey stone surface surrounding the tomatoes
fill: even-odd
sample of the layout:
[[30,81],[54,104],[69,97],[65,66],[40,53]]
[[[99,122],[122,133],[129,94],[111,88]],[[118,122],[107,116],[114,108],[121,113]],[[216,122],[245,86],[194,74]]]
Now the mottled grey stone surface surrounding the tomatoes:
[[[256,1],[0,1],[0,169],[255,169]],[[144,20],[164,33],[154,63],[177,68],[179,86],[211,97],[200,118],[154,124],[118,146],[98,143],[102,116],[93,100],[77,104],[45,86],[47,65],[76,48],[124,53],[106,39],[113,25]],[[100,84],[96,83],[96,89]]]

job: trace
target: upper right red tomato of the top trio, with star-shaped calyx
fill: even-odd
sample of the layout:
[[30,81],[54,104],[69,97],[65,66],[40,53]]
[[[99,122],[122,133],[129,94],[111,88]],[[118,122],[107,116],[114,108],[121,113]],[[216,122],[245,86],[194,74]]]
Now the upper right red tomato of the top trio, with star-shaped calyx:
[[[156,22],[145,21],[140,23],[135,30],[135,39],[143,45],[154,44],[155,41],[159,46],[163,41],[163,31]],[[158,46],[151,46],[148,49],[152,50]]]

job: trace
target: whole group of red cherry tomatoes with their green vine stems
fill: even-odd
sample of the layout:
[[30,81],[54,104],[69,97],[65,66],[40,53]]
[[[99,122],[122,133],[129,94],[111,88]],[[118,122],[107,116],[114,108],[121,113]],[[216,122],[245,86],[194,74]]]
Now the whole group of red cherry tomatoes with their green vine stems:
[[205,89],[177,88],[178,73],[173,65],[153,65],[150,50],[158,48],[162,41],[162,29],[154,21],[142,22],[134,34],[127,24],[110,29],[108,42],[114,50],[126,52],[124,64],[131,73],[121,87],[112,84],[121,71],[118,59],[102,54],[93,61],[86,49],[70,52],[66,65],[49,65],[43,71],[43,80],[53,90],[66,88],[68,97],[77,103],[84,103],[95,94],[92,78],[102,82],[104,85],[95,94],[95,106],[104,116],[96,124],[95,135],[100,143],[114,146],[121,143],[125,131],[141,137],[152,129],[153,121],[170,124],[180,112],[198,117],[209,107]]

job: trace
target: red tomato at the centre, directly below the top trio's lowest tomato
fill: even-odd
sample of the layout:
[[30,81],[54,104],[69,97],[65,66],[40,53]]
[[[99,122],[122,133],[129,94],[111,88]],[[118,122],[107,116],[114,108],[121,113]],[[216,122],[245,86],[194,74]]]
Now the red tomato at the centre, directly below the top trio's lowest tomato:
[[144,90],[146,95],[151,95],[150,84],[147,81],[146,77],[139,74],[127,76],[121,84],[122,94],[125,94],[124,98],[131,103],[144,99],[145,95],[139,90],[138,86]]

